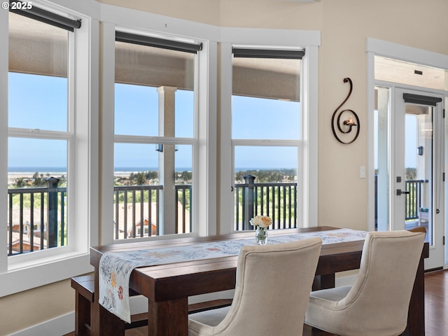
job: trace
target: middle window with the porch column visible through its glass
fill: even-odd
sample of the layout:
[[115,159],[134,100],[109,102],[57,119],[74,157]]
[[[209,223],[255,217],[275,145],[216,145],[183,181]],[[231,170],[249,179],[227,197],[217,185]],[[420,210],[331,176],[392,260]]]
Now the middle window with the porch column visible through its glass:
[[200,43],[116,32],[116,240],[193,232],[201,48]]

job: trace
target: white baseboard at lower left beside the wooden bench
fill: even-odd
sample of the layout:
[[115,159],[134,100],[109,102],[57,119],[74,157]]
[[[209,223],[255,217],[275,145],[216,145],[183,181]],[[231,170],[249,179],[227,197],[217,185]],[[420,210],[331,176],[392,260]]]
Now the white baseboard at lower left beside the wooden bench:
[[33,325],[14,332],[9,336],[61,336],[75,330],[75,312],[52,318],[51,320]]

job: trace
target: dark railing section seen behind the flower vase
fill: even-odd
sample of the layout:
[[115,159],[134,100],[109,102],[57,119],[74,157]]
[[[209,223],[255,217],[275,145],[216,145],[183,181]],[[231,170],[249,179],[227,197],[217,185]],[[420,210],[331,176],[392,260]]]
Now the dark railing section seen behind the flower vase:
[[257,215],[272,219],[270,230],[297,228],[297,183],[254,183],[244,176],[235,184],[235,230],[253,230],[249,223]]

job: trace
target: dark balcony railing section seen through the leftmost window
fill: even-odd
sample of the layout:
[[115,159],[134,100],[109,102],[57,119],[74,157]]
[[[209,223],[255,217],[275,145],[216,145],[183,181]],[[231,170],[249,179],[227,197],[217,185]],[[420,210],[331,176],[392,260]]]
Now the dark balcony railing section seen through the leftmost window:
[[8,255],[66,245],[66,188],[8,189]]

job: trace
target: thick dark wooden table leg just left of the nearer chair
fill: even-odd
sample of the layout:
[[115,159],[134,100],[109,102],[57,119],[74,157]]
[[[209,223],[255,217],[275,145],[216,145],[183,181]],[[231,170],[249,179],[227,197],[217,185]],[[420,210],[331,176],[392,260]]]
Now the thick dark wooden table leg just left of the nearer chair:
[[149,299],[148,335],[188,336],[188,297],[161,302]]

